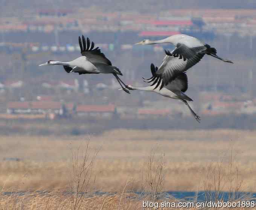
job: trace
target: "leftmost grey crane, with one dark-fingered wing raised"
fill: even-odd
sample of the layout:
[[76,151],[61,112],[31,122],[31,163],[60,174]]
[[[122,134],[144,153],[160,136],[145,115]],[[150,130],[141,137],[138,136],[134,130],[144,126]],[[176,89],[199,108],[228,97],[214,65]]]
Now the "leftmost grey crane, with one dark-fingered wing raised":
[[123,75],[122,72],[116,66],[112,66],[110,60],[101,52],[99,47],[94,48],[94,42],[90,42],[87,37],[85,40],[84,35],[82,39],[79,36],[79,45],[81,49],[80,57],[69,62],[60,62],[49,60],[39,66],[49,66],[49,65],[62,65],[67,73],[77,72],[81,74],[113,74],[116,80],[126,93],[130,93],[125,87],[126,84],[117,76]]

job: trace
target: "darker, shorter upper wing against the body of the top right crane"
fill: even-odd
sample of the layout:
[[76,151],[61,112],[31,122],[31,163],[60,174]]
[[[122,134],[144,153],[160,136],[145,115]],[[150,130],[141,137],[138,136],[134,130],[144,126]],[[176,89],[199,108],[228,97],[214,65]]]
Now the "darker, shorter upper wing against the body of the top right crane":
[[207,46],[196,46],[196,47],[188,47],[185,44],[178,43],[176,48],[167,55],[183,58],[184,61],[187,59],[193,58],[197,54],[205,54],[207,52]]

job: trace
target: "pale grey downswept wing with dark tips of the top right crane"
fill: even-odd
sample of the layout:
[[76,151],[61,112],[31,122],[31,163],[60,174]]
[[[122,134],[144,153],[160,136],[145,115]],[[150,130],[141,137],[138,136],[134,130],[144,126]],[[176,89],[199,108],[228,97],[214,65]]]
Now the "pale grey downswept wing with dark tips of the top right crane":
[[181,73],[186,72],[189,68],[197,64],[204,57],[204,53],[195,54],[193,57],[184,61],[179,57],[168,55],[172,53],[173,52],[166,51],[166,56],[163,59],[163,63],[156,72],[157,75],[161,75],[165,85],[169,84]]

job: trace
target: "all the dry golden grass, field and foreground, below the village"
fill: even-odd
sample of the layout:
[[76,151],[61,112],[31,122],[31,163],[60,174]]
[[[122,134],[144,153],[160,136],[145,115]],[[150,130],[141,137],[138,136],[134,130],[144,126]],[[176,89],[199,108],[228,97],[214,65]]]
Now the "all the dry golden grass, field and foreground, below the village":
[[215,201],[227,191],[240,200],[234,192],[255,189],[255,134],[114,130],[92,137],[90,147],[76,138],[5,136],[0,158],[21,161],[0,163],[0,210],[137,210],[142,200],[161,201],[165,190],[204,190]]

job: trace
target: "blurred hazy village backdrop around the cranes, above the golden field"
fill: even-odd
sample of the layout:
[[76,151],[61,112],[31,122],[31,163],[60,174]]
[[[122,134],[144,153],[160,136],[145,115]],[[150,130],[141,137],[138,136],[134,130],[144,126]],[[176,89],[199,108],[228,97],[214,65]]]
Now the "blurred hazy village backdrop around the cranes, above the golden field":
[[[0,132],[82,135],[114,128],[254,129],[256,4],[253,0],[0,1]],[[162,96],[118,90],[112,75],[67,74],[38,65],[80,56],[84,34],[123,73],[144,86],[171,45],[134,45],[185,33],[234,64],[205,56],[189,69],[187,95],[201,118]]]

